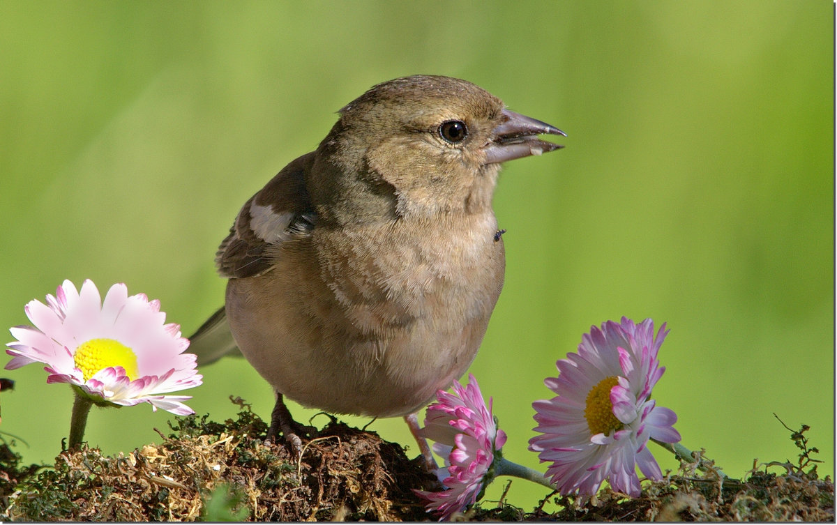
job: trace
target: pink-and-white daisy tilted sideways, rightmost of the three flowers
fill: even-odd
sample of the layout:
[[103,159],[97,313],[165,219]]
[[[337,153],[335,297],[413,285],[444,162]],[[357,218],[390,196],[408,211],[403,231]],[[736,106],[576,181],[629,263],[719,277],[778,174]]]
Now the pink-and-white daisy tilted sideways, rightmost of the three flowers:
[[665,371],[657,353],[666,334],[665,324],[655,337],[651,319],[637,325],[623,317],[591,327],[578,354],[557,361],[560,374],[544,381],[557,396],[532,403],[534,430],[542,435],[529,449],[551,463],[547,477],[562,494],[593,496],[607,479],[615,491],[638,497],[636,466],[645,477],[662,478],[646,445],[680,441],[672,427],[677,415],[651,399]]

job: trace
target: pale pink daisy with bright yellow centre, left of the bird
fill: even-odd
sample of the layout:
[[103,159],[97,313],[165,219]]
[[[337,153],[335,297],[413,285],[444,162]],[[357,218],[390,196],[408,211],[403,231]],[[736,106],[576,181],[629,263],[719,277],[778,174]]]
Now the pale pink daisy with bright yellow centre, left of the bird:
[[102,303],[90,280],[80,291],[64,281],[46,301],[26,305],[33,327],[10,330],[17,340],[7,345],[13,356],[7,370],[44,363],[47,383],[73,385],[77,404],[84,400],[88,410],[90,404],[150,403],[153,410],[193,414],[182,403],[191,396],[167,394],[198,386],[203,378],[195,370],[195,355],[183,353],[188,339],[180,336],[179,325],[165,323],[159,301],[142,293],[129,297],[126,285],[118,283]]

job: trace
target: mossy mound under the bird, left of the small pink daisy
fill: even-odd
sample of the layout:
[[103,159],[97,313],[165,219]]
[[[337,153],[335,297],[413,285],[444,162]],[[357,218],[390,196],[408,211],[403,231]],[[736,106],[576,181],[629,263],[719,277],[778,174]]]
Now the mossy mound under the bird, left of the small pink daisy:
[[435,478],[421,463],[410,461],[401,446],[377,434],[331,422],[296,460],[285,446],[264,446],[266,426],[246,406],[237,419],[223,424],[188,416],[170,426],[162,444],[129,454],[106,457],[87,446],[62,452],[52,468],[20,484],[2,518],[129,522],[426,517],[411,489],[431,487]]

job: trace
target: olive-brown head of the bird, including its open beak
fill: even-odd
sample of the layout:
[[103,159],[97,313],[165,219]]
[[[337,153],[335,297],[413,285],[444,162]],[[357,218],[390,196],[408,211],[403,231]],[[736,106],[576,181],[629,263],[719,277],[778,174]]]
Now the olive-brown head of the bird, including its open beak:
[[321,150],[355,174],[334,181],[340,191],[388,195],[398,216],[433,217],[490,208],[501,162],[562,147],[541,134],[564,135],[475,84],[416,75],[347,104]]

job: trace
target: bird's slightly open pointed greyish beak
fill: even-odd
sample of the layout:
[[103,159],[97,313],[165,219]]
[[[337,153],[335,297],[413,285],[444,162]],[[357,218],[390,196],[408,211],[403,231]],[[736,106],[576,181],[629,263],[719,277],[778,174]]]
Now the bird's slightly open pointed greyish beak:
[[510,110],[503,110],[503,116],[506,120],[494,129],[490,142],[485,145],[485,164],[541,155],[564,147],[537,138],[542,134],[567,136],[555,126]]

